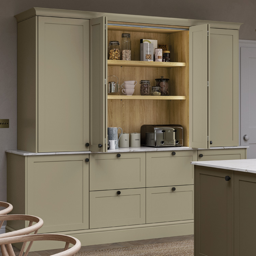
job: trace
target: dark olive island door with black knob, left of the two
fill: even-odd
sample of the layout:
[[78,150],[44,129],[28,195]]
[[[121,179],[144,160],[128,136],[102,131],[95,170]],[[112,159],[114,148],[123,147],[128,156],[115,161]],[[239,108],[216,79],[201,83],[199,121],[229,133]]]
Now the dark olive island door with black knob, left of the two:
[[233,176],[195,166],[195,256],[233,255]]

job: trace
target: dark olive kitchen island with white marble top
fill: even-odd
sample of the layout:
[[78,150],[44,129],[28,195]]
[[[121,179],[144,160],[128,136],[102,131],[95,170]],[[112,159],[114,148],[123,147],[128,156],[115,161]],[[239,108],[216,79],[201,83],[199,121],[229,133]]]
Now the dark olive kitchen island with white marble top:
[[195,165],[195,256],[255,255],[256,159]]

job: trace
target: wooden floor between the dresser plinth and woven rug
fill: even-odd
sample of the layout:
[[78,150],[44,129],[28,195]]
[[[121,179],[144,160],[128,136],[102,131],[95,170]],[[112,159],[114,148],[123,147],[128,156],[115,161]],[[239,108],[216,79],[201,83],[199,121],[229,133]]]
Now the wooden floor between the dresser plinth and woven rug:
[[[165,237],[165,238],[110,243],[110,244],[88,245],[88,246],[82,246],[80,249],[80,252],[138,246],[138,245],[144,245],[144,244],[168,243],[172,241],[184,241],[184,240],[194,240],[194,235],[179,236],[179,237]],[[59,253],[61,251],[63,250],[62,249],[45,250],[45,251],[30,252],[28,255],[29,256],[49,256],[55,253]],[[15,247],[14,247],[14,252],[15,252],[15,255],[19,254],[19,250]],[[2,256],[1,252],[0,252],[0,256]]]

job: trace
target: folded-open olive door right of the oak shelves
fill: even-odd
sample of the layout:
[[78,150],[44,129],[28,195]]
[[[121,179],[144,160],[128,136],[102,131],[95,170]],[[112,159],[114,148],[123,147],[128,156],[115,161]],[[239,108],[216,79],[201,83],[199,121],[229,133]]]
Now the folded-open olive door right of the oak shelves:
[[[209,36],[208,36],[209,31]],[[189,28],[189,147],[210,148],[210,25]],[[209,81],[209,83],[208,83]],[[209,86],[208,86],[209,85]]]

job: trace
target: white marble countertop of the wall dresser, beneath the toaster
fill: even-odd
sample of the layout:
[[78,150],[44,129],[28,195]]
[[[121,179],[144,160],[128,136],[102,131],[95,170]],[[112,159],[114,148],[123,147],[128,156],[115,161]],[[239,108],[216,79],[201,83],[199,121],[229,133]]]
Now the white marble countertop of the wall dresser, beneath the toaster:
[[[248,146],[236,146],[236,147],[211,147],[212,149],[228,149],[228,148],[247,148]],[[122,152],[149,152],[149,151],[178,151],[178,150],[201,150],[203,148],[193,147],[119,147],[115,150],[108,150],[108,153],[122,153]],[[21,156],[40,156],[40,155],[70,155],[70,154],[93,154],[100,152],[91,151],[72,151],[72,152],[46,152],[46,153],[33,153],[23,150],[5,150],[7,153],[17,154]]]

